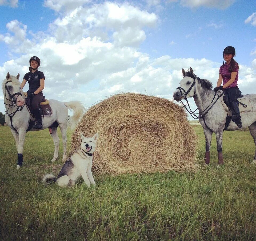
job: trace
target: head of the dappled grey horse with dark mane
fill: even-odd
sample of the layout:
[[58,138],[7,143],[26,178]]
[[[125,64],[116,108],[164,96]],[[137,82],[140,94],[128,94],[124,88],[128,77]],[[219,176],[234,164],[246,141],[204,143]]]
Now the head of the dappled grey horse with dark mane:
[[183,100],[185,98],[193,97],[195,95],[195,80],[196,75],[193,69],[185,71],[182,69],[183,79],[179,82],[179,87],[173,92],[173,98],[176,101]]

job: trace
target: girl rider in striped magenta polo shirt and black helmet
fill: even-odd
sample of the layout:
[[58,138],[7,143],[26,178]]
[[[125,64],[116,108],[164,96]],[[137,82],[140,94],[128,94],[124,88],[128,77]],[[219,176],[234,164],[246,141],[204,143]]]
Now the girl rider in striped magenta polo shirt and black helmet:
[[[241,116],[238,108],[237,97],[239,95],[238,81],[238,63],[233,59],[235,56],[235,48],[227,46],[223,51],[223,65],[219,68],[219,79],[217,87],[213,90],[223,90],[223,93],[229,98],[229,106],[232,110],[232,121],[237,124],[239,128],[242,127]],[[224,61],[226,63],[224,64]],[[223,79],[223,86],[221,86]]]

